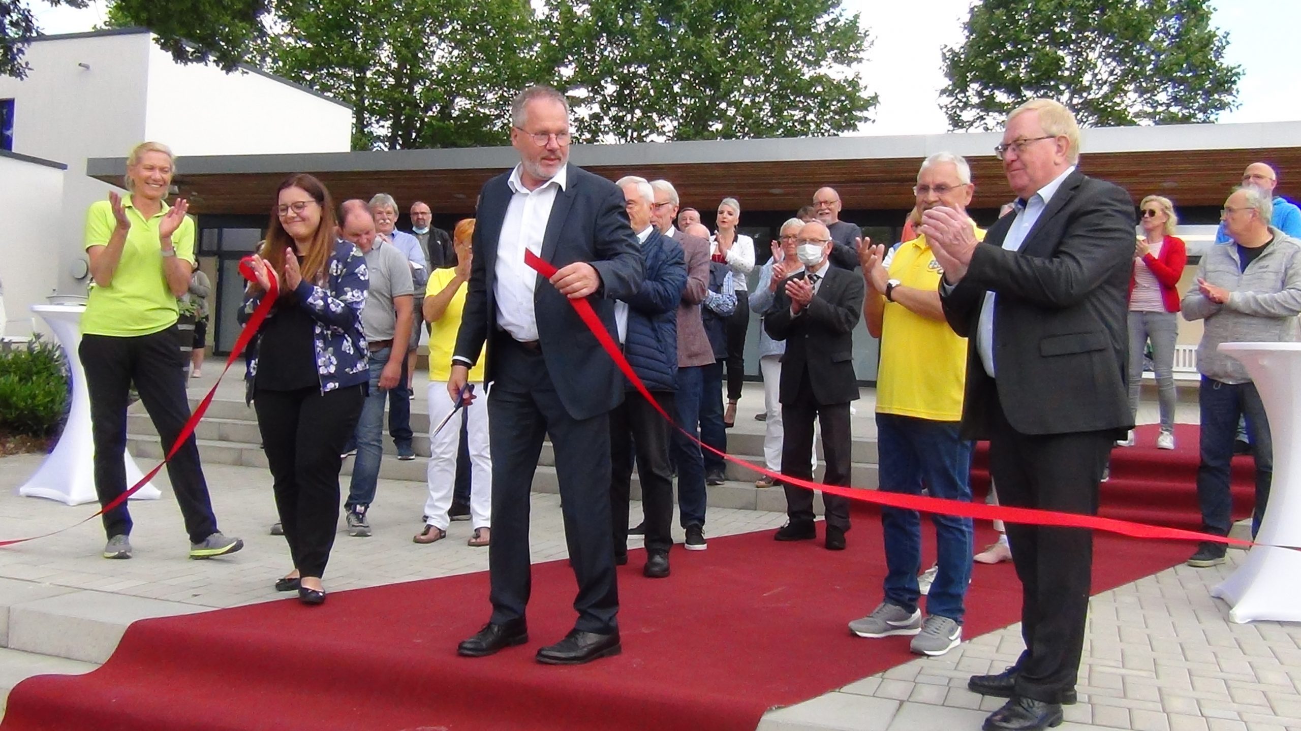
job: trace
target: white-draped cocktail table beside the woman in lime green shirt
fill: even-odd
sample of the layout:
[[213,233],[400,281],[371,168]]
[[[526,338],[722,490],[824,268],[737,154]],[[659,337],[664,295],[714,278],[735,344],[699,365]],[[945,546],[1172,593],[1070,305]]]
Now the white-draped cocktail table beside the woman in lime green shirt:
[[[95,494],[95,441],[90,431],[90,393],[86,390],[86,371],[82,368],[77,347],[81,345],[81,316],[83,304],[33,304],[31,311],[49,324],[59,345],[68,356],[73,395],[68,411],[68,424],[59,437],[55,450],[40,463],[40,468],[21,488],[18,494],[44,497],[68,505],[96,502]],[[134,485],[144,476],[130,454],[126,460],[126,485]],[[161,493],[152,483],[141,488],[133,499],[157,499]]]

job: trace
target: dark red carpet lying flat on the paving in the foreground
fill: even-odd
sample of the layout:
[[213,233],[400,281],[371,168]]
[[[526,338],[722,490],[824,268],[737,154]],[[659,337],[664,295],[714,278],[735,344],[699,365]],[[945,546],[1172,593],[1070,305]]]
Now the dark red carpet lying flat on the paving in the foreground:
[[[705,553],[679,546],[666,580],[641,578],[632,552],[619,570],[623,654],[579,667],[533,662],[574,620],[563,561],[533,567],[532,641],[481,659],[454,649],[488,617],[487,574],[338,592],[321,607],[285,600],[138,622],[104,667],[21,683],[0,728],[751,731],[770,706],[913,659],[908,637],[846,630],[879,601],[885,571],[878,519],[848,537],[843,553],[821,538],[778,544],[771,531],[714,538]],[[990,538],[980,529],[977,546]],[[1099,535],[1094,591],[1189,550]],[[968,639],[1016,622],[1020,606],[1011,565],[974,571]]]

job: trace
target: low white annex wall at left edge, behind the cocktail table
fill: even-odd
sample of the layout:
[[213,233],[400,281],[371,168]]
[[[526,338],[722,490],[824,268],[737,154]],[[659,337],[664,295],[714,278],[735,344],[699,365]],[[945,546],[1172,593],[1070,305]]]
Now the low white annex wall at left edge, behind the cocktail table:
[[[4,282],[7,334],[31,332],[33,304],[55,293],[60,243],[49,235],[64,204],[64,176],[59,168],[0,155],[0,200],[5,233],[0,235],[0,282]],[[17,204],[21,202],[21,206]],[[36,320],[36,330],[46,332]]]

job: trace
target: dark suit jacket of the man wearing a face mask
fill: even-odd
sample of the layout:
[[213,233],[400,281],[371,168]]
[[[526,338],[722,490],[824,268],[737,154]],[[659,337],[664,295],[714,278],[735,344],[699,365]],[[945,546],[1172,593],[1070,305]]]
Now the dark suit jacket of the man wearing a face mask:
[[[794,276],[803,277],[804,272]],[[805,371],[820,406],[857,399],[852,333],[863,315],[863,276],[833,264],[813,300],[799,316],[791,315],[787,281],[790,277],[777,287],[773,306],[764,313],[768,337],[786,341],[779,401],[795,402]]]

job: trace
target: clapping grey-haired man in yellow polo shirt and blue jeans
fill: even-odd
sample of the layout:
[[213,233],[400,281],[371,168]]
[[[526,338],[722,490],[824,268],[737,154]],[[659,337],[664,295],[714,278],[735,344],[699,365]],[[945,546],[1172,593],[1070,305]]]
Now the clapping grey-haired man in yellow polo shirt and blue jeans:
[[[974,187],[971,166],[939,152],[917,173],[917,209],[946,206],[965,211]],[[977,229],[978,238],[985,232]],[[877,446],[881,489],[971,501],[972,442],[958,433],[963,414],[967,339],[945,321],[939,304],[943,272],[925,237],[905,241],[887,265],[885,247],[864,242],[860,252],[868,297],[863,312],[868,332],[881,338],[877,375]],[[933,515],[938,567],[922,619],[917,570],[921,567],[921,519],[915,510],[883,507],[886,549],[885,600],[850,623],[860,637],[913,636],[919,654],[947,653],[963,635],[964,598],[971,580],[972,522]]]

